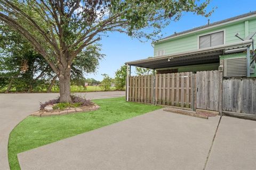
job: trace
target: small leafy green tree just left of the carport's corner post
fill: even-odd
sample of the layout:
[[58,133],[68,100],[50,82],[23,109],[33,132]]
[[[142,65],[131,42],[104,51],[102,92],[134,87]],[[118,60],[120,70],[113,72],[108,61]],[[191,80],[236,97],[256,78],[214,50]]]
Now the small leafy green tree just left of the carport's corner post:
[[120,69],[116,71],[115,75],[115,86],[117,90],[125,90],[126,82],[126,65],[121,66]]

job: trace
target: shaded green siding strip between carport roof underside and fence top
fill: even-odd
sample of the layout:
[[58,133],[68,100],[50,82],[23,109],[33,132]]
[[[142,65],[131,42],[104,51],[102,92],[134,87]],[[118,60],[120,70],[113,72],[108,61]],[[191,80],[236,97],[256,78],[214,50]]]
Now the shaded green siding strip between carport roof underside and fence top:
[[178,69],[178,72],[197,72],[197,71],[210,71],[210,70],[218,70],[219,63],[213,64],[201,64],[201,65],[188,65],[188,66],[180,66],[180,67],[170,67],[161,70],[167,69]]

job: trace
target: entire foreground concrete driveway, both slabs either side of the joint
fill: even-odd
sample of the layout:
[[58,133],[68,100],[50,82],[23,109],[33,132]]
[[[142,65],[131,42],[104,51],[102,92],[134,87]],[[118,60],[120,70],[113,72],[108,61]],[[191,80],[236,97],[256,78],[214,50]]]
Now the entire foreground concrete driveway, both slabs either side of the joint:
[[205,120],[159,109],[22,152],[18,159],[22,170],[252,170],[255,146],[255,121]]

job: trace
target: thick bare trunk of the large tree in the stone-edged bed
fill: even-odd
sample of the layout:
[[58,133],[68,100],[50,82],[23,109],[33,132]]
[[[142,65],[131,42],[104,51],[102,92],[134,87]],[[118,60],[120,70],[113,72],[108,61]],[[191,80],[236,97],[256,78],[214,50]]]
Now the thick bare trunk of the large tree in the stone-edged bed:
[[70,103],[70,68],[60,69],[60,102]]

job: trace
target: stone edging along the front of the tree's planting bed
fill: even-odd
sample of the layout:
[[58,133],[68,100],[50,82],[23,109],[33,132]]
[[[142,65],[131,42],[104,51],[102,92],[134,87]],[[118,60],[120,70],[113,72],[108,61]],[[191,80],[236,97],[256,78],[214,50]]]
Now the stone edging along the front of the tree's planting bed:
[[83,107],[76,107],[76,108],[68,108],[63,111],[51,111],[51,112],[46,112],[46,111],[37,111],[31,114],[31,116],[37,116],[37,117],[46,117],[46,116],[56,116],[56,115],[67,115],[67,114],[72,114],[72,113],[82,113],[82,112],[90,112],[90,111],[96,111],[100,108],[100,106],[94,104],[92,107],[89,108],[83,108]]

